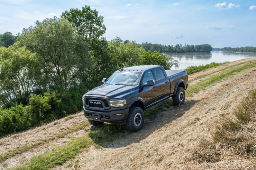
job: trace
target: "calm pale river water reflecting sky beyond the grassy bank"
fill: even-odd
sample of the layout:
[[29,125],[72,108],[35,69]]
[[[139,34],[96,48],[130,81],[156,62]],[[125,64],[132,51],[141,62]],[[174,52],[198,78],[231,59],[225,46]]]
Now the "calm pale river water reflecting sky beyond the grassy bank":
[[[179,69],[186,69],[188,66],[210,64],[211,62],[236,61],[256,57],[256,53],[235,53],[211,51],[211,53],[167,53],[179,61]],[[175,68],[172,68],[175,69]]]

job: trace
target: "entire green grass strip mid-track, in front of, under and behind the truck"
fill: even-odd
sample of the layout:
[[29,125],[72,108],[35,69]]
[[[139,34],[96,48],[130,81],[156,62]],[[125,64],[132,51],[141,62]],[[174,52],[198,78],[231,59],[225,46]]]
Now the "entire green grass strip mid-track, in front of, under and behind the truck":
[[[211,76],[195,85],[189,86],[186,93],[189,95],[192,93],[198,93],[207,86],[213,85],[216,81],[220,81],[229,76],[238,74],[242,70],[250,69],[255,66],[256,61]],[[160,111],[172,108],[171,104],[172,100],[169,99],[158,106],[145,111],[145,117],[150,117]],[[61,137],[61,135],[59,136]],[[111,142],[123,137],[129,137],[129,132],[125,130],[124,125],[103,124],[97,129],[88,131],[88,134],[83,137],[74,138],[71,142],[68,142],[67,145],[53,148],[52,151],[47,151],[41,155],[32,157],[28,162],[15,167],[15,169],[50,169],[75,158],[77,154],[87,150],[90,146],[101,148],[101,146],[110,144]],[[69,167],[70,166],[72,166],[72,163],[69,163]]]

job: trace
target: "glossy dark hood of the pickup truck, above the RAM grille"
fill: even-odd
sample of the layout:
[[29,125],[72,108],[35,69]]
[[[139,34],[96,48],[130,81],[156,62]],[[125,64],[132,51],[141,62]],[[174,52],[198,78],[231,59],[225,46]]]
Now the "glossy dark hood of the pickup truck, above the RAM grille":
[[134,86],[126,85],[101,85],[89,92],[86,95],[101,95],[108,96],[112,99],[122,98],[125,94],[130,93],[134,90]]

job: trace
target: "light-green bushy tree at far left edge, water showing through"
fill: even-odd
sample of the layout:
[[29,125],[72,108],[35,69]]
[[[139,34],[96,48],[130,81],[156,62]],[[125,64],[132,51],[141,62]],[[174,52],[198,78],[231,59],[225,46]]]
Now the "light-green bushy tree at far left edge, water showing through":
[[30,94],[42,85],[42,62],[24,47],[0,47],[0,105],[27,104]]

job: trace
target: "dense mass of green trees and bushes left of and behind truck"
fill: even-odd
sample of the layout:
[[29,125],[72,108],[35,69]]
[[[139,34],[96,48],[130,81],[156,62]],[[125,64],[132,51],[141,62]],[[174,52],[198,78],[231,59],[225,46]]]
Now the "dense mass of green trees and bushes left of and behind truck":
[[[107,41],[103,17],[90,6],[72,8],[16,37],[1,35],[0,135],[64,117],[82,109],[82,95],[103,77],[133,65],[178,67],[160,51],[135,41]],[[7,38],[8,39],[8,38]]]

